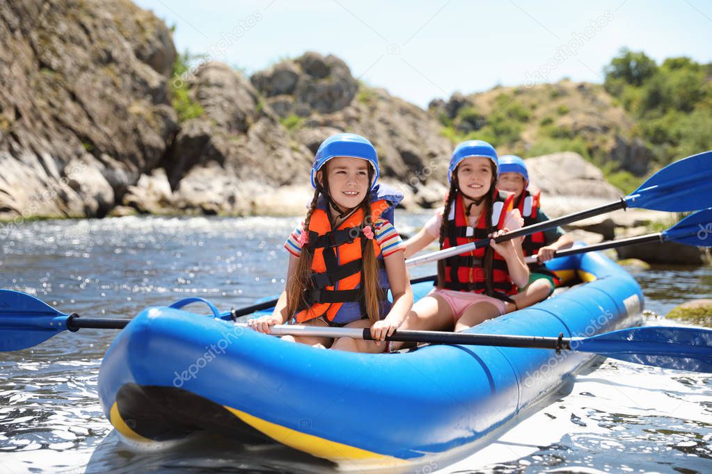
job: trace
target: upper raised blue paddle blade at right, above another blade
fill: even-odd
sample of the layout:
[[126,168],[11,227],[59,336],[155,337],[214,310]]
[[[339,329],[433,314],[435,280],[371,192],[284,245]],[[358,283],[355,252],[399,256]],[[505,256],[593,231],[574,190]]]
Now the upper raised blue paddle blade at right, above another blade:
[[629,208],[689,212],[712,206],[712,151],[688,156],[651,176],[625,198]]

